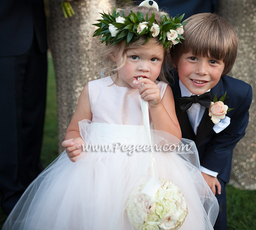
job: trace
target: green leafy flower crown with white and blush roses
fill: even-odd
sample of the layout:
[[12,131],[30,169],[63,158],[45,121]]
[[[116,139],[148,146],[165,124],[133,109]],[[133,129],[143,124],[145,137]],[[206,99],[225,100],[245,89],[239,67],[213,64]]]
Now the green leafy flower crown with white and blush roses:
[[128,16],[125,16],[123,10],[115,7],[111,15],[104,12],[100,14],[102,19],[97,20],[99,23],[93,24],[99,27],[93,36],[102,36],[100,38],[101,43],[105,43],[106,46],[109,44],[114,45],[123,40],[125,40],[126,44],[129,44],[139,40],[140,36],[145,35],[147,37],[145,43],[151,37],[157,37],[164,49],[167,50],[172,45],[181,43],[180,39],[184,39],[181,35],[186,22],[180,23],[184,14],[180,17],[177,15],[174,18],[164,14],[158,23],[155,20],[154,12],[150,18],[148,13],[144,18],[143,13],[140,11],[137,14],[131,11]]

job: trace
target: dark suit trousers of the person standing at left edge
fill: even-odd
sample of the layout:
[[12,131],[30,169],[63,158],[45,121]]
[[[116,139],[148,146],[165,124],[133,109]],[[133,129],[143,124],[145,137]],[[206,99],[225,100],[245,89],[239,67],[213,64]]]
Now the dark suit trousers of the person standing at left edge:
[[33,41],[23,55],[0,57],[0,79],[0,202],[9,214],[43,169],[47,54]]

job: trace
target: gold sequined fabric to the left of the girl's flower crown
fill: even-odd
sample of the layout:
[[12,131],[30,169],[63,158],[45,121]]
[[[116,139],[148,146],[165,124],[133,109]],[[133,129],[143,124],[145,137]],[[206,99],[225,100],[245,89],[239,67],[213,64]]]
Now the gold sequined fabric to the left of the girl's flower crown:
[[100,45],[92,35],[97,29],[93,23],[100,18],[98,12],[111,10],[114,0],[71,1],[75,15],[65,18],[61,0],[50,0],[49,44],[52,52],[58,106],[58,146],[65,138],[67,126],[76,110],[79,95],[88,81],[99,70],[99,56],[95,52]]

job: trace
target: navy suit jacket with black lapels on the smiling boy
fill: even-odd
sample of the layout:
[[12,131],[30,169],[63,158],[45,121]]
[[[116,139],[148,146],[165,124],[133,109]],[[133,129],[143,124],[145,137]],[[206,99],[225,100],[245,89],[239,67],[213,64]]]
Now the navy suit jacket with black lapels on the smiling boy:
[[[229,181],[233,149],[237,142],[245,135],[249,120],[249,107],[252,102],[252,87],[243,81],[224,75],[218,84],[211,89],[212,99],[217,93],[218,99],[225,93],[224,104],[234,110],[228,111],[230,125],[220,133],[213,131],[213,122],[208,115],[208,109],[202,117],[195,135],[186,111],[179,108],[178,98],[181,96],[179,78],[171,83],[175,100],[176,115],[182,130],[182,137],[195,141],[201,166],[219,172],[218,178],[226,183]],[[246,151],[246,149],[245,149]]]

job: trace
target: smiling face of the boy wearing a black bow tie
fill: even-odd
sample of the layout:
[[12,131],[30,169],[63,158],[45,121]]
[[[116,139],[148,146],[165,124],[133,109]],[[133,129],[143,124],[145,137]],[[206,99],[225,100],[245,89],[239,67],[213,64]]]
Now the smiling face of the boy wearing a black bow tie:
[[220,80],[225,64],[222,60],[183,53],[178,65],[179,79],[193,94],[201,95]]

